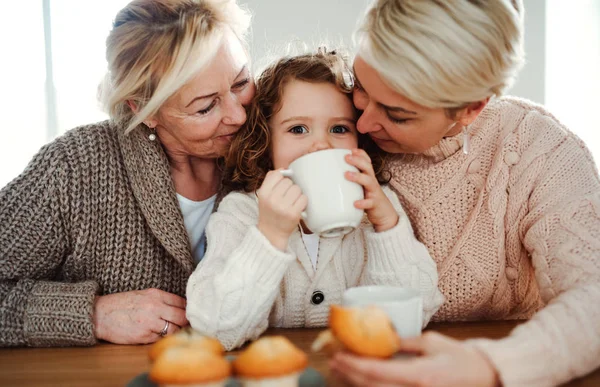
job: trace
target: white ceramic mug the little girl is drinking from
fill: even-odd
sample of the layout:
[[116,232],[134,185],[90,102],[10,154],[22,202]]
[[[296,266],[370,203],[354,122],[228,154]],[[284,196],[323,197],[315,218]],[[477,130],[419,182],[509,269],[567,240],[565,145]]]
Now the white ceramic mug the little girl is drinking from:
[[344,176],[358,169],[346,162],[349,149],[326,149],[306,154],[281,171],[308,197],[302,214],[306,226],[324,237],[344,235],[357,228],[364,211],[354,202],[364,198],[363,187]]

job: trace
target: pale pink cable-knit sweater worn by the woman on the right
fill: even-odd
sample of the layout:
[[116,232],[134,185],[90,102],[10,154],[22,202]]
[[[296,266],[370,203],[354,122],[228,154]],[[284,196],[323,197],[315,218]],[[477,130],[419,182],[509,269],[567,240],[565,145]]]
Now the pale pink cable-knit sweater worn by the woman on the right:
[[533,316],[506,339],[472,342],[505,386],[585,374],[600,365],[600,181],[592,157],[542,107],[515,98],[492,101],[470,133],[468,155],[458,135],[393,164],[391,185],[446,296],[433,320]]

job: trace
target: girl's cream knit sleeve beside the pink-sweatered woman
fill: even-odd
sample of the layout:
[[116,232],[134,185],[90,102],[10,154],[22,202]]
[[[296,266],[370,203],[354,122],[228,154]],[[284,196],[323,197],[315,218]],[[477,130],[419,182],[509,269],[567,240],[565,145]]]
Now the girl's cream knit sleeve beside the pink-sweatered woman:
[[386,196],[398,212],[398,224],[376,233],[372,226],[364,229],[367,263],[362,274],[363,285],[393,285],[416,289],[423,296],[423,327],[444,302],[438,288],[436,264],[427,248],[415,238],[408,216],[396,194],[387,186]]

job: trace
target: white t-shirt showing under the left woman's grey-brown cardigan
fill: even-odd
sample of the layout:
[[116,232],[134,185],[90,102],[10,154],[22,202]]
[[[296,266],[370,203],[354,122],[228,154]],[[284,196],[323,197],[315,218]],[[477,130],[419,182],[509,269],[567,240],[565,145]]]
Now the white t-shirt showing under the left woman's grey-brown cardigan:
[[183,224],[185,224],[185,229],[190,238],[192,256],[196,263],[200,262],[202,257],[204,257],[206,246],[204,230],[206,229],[208,218],[210,218],[210,214],[212,214],[215,207],[216,199],[217,195],[213,195],[206,200],[195,202],[177,194],[179,208],[181,208],[181,213],[183,214]]

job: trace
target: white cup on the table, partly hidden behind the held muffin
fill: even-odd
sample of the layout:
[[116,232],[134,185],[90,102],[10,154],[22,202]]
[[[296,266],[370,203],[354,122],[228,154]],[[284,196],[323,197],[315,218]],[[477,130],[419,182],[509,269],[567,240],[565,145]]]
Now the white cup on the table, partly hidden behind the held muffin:
[[395,286],[359,286],[350,288],[342,296],[344,306],[375,305],[390,318],[400,337],[421,334],[423,297],[409,288]]

